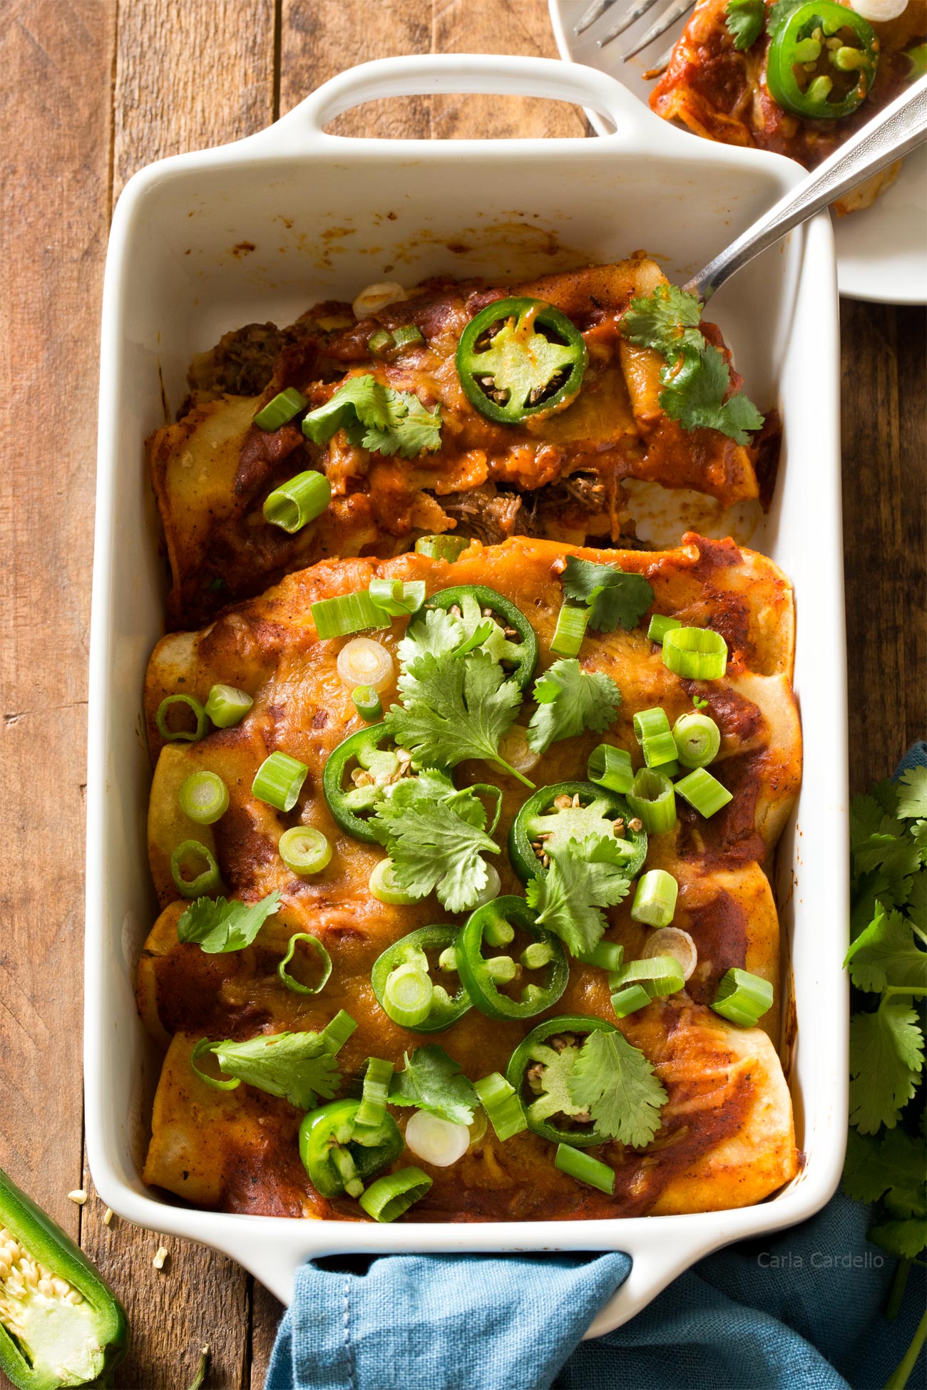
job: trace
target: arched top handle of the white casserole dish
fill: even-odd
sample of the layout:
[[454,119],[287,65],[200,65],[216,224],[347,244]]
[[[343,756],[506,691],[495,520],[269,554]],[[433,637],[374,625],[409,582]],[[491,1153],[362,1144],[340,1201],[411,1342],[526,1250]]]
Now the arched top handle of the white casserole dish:
[[[325,125],[364,101],[449,93],[535,96],[571,101],[605,115],[614,131],[602,139],[620,140],[621,145],[639,140],[643,125],[649,126],[652,121],[663,124],[614,78],[580,63],[488,53],[423,53],[377,58],[339,72],[275,125],[253,135],[249,143],[267,142],[275,150],[289,149],[297,153],[311,145],[343,139],[345,136],[328,135]],[[391,140],[391,145],[400,143],[403,142]]]

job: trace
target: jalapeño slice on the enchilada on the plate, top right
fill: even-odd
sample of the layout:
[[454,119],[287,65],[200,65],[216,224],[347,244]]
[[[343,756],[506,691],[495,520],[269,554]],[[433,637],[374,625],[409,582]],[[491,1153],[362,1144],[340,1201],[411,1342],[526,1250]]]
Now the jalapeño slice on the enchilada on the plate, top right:
[[871,24],[835,0],[803,4],[773,32],[766,56],[770,96],[792,115],[834,121],[871,92],[878,38]]

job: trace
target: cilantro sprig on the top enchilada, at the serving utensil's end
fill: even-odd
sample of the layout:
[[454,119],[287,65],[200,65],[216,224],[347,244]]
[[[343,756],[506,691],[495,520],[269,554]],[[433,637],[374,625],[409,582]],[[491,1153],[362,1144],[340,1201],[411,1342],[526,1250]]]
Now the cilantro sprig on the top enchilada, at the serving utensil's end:
[[[702,306],[677,285],[657,285],[652,295],[631,300],[621,332],[639,348],[660,353],[660,406],[684,430],[719,430],[735,443],[750,442],[763,416],[742,392],[728,396],[731,368],[720,349],[698,328]],[[728,398],[728,399],[725,399]]]

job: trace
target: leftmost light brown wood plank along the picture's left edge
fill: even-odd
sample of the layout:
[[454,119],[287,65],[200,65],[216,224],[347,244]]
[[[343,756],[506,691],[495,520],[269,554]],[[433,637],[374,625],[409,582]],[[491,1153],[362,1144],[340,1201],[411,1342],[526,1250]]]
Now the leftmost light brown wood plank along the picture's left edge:
[[[114,6],[0,25],[0,1163],[74,1236],[86,641]],[[67,427],[44,413],[56,399]],[[64,983],[64,988],[63,988]]]

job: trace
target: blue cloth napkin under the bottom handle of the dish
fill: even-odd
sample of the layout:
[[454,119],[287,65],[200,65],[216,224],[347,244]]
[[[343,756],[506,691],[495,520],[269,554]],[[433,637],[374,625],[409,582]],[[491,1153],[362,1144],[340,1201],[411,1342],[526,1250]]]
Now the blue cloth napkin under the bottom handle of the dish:
[[[898,771],[927,764],[916,744]],[[898,774],[896,774],[898,776]],[[870,1209],[839,1193],[812,1220],[741,1241],[681,1275],[617,1332],[581,1341],[627,1255],[386,1255],[310,1261],[265,1390],[878,1390],[927,1307]],[[927,1357],[909,1386],[927,1384]]]

